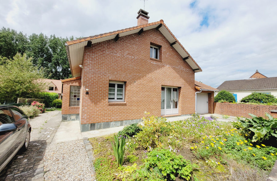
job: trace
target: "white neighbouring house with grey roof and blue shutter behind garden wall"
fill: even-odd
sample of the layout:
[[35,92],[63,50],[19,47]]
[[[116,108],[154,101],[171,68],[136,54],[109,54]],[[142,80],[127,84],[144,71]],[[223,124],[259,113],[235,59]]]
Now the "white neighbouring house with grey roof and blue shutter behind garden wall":
[[242,98],[253,92],[271,94],[277,97],[277,77],[266,77],[257,70],[249,79],[225,81],[217,89],[231,92],[236,102],[240,102]]

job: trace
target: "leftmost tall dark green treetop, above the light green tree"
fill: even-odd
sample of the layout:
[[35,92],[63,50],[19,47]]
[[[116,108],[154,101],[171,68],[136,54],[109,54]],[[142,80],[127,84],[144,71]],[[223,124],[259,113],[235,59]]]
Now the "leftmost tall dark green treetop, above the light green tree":
[[17,53],[23,54],[28,44],[26,34],[4,27],[0,30],[0,56],[12,58]]

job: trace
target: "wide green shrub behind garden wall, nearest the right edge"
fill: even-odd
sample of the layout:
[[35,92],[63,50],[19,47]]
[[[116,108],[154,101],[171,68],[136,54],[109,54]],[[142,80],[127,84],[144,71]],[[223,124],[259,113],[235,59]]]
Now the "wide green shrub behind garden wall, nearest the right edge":
[[271,94],[253,92],[240,100],[243,103],[277,103],[277,99]]

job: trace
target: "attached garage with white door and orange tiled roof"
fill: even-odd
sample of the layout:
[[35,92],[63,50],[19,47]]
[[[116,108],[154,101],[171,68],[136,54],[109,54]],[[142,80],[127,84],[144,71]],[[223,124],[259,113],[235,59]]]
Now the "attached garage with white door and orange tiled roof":
[[199,114],[213,113],[214,94],[219,91],[216,88],[195,80],[195,112]]

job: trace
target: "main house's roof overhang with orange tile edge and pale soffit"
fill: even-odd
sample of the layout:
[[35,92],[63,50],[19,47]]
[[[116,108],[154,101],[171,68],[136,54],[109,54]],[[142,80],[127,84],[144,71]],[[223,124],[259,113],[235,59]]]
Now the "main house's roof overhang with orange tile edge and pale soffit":
[[[66,42],[66,53],[67,58],[70,64],[70,70],[73,77],[80,76],[81,68],[79,65],[82,64],[84,47],[87,45],[88,41],[91,41],[92,44],[103,42],[106,40],[114,39],[116,36],[122,37],[134,33],[138,33],[143,29],[143,31],[150,29],[158,29],[169,41],[170,44],[176,49],[176,51],[183,57],[187,58],[185,61],[191,66],[195,72],[201,72],[202,69],[187,52],[187,50],[181,45],[177,38],[171,33],[166,24],[161,19],[157,22],[148,23],[145,25],[134,26],[122,30],[112,31],[109,33],[98,34],[94,36],[89,36],[85,38],[80,38],[73,41]],[[174,44],[175,43],[175,44]]]

